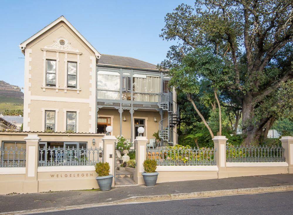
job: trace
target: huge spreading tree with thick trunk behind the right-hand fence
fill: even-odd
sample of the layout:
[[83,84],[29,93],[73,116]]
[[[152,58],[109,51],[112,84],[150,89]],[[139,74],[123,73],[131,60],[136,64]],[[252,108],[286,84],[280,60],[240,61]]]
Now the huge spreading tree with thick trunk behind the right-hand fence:
[[[292,103],[286,103],[292,102],[287,98],[292,95],[292,5],[292,0],[197,0],[165,16],[160,36],[178,45],[170,47],[161,66],[175,68],[202,47],[231,66],[230,80],[215,84],[241,106],[244,144],[264,136],[280,110],[292,112]],[[285,99],[281,88],[287,89]]]

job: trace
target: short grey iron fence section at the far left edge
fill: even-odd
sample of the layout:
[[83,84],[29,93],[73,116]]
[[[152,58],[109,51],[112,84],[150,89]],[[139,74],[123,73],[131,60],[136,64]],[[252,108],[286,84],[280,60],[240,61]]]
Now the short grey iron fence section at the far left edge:
[[25,167],[26,149],[0,149],[0,167]]

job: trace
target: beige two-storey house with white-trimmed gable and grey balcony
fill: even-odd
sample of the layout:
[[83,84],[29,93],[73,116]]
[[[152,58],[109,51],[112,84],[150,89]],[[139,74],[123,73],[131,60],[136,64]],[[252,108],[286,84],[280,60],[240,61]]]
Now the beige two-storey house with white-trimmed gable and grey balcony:
[[[147,139],[159,132],[162,141],[176,144],[176,92],[168,88],[167,71],[101,54],[64,16],[19,48],[25,56],[23,132],[55,135],[51,142],[43,137],[42,147],[73,142],[74,148],[88,148],[100,142],[109,125],[111,135],[132,142],[144,127]],[[68,139],[80,134],[78,141]]]

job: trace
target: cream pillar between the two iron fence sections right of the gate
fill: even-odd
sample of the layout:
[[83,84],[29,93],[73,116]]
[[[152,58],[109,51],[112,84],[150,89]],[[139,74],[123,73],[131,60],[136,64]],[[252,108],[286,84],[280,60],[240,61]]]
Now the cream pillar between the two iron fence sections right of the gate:
[[212,140],[214,141],[215,157],[219,168],[218,178],[228,178],[226,173],[226,141],[228,139],[226,136],[215,136]]

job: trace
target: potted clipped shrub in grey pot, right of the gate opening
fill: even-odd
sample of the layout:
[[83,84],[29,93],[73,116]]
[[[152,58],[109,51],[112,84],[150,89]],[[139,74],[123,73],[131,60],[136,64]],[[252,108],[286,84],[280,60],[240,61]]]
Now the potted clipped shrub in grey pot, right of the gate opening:
[[157,161],[155,160],[145,160],[143,162],[143,168],[145,172],[141,173],[143,175],[143,180],[145,181],[145,186],[155,186],[159,173],[156,172]]

